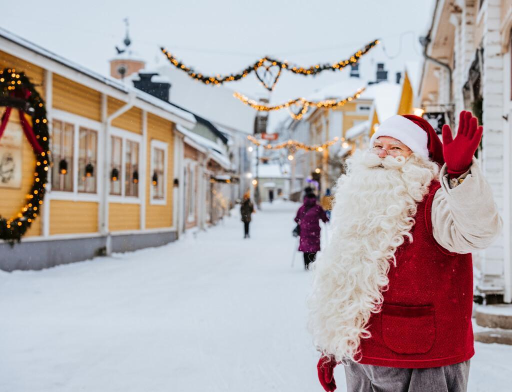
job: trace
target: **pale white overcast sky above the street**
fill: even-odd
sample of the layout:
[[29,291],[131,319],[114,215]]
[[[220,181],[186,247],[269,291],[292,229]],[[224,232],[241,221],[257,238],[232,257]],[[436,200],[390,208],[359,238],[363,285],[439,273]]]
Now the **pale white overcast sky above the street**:
[[[265,55],[304,66],[336,62],[379,38],[383,46],[362,58],[361,67],[373,75],[375,63],[385,62],[389,78],[394,80],[394,73],[402,71],[406,61],[421,59],[418,37],[429,27],[433,3],[25,0],[23,12],[9,13],[0,26],[105,75],[109,73],[108,60],[115,55],[114,46],[124,37],[124,17],[130,19],[134,49],[148,63],[167,61],[159,52],[164,46],[187,65],[212,74],[240,71]],[[348,73],[348,69],[326,71],[315,78],[284,73],[271,102],[307,96],[343,80]],[[254,98],[268,94],[253,76],[227,86]]]

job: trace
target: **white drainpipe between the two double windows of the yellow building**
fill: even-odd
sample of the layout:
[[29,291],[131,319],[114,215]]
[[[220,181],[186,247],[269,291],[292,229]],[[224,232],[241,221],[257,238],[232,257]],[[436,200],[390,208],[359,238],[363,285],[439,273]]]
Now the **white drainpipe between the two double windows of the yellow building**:
[[124,112],[130,110],[135,104],[135,94],[131,93],[128,102],[117,109],[114,113],[108,116],[107,101],[108,97],[102,95],[101,105],[101,119],[103,123],[103,194],[101,197],[101,222],[100,222],[100,234],[106,237],[105,242],[105,256],[110,256],[112,253],[112,237],[109,230],[109,189],[110,189],[110,126],[112,120],[121,116]]

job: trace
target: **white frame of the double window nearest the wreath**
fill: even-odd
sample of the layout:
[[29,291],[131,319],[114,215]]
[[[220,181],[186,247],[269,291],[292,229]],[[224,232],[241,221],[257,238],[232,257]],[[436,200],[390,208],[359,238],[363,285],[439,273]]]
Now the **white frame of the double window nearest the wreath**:
[[[48,192],[49,199],[52,200],[70,200],[70,201],[100,201],[99,195],[102,192],[102,181],[100,180],[103,175],[101,157],[103,156],[104,146],[100,143],[100,134],[102,124],[98,121],[91,120],[78,114],[69,113],[67,111],[52,109],[52,124],[53,121],[61,121],[63,123],[73,124],[73,171],[69,173],[73,176],[73,191],[54,191]],[[79,130],[80,127],[88,128],[97,132],[97,162],[94,168],[96,173],[96,193],[78,192],[78,153],[79,153]],[[52,134],[53,132],[50,132]],[[58,162],[53,162],[53,165],[58,165]],[[51,171],[49,172],[49,183],[52,183]]]

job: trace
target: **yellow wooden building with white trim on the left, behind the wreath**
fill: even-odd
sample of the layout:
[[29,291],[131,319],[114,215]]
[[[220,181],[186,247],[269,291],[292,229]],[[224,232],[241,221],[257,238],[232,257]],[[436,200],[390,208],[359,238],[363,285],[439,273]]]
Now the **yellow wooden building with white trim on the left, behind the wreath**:
[[[53,162],[41,212],[22,242],[0,241],[0,269],[44,268],[175,240],[176,125],[191,128],[194,116],[5,30],[0,48],[0,69],[24,73],[45,100]],[[0,183],[5,218],[23,206],[33,181],[34,153],[20,129],[13,111],[5,132],[12,137],[0,139],[0,154],[21,158],[14,160],[20,178]]]

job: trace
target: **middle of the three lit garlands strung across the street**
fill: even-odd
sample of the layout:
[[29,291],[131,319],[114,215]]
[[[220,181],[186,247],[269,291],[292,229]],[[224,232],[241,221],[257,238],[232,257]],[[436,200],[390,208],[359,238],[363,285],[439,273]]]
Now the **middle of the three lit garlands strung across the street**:
[[[234,93],[233,97],[237,98],[244,104],[252,107],[254,110],[257,110],[257,111],[275,111],[275,110],[281,110],[284,108],[288,108],[290,110],[290,116],[294,120],[301,120],[302,117],[304,116],[304,114],[307,113],[307,111],[309,110],[310,107],[327,108],[327,109],[332,109],[334,107],[341,107],[341,106],[345,105],[347,102],[351,102],[354,99],[359,98],[359,96],[365,91],[365,89],[366,89],[366,87],[359,88],[356,91],[356,93],[354,93],[352,96],[347,97],[343,100],[328,99],[328,100],[324,100],[324,101],[309,101],[305,98],[295,98],[295,99],[286,101],[285,103],[282,103],[279,105],[274,105],[274,106],[264,105],[262,103],[254,101],[252,99],[249,99],[248,97],[246,97],[240,93]],[[291,107],[294,105],[300,107],[300,111],[298,113],[294,113],[291,110]]]

